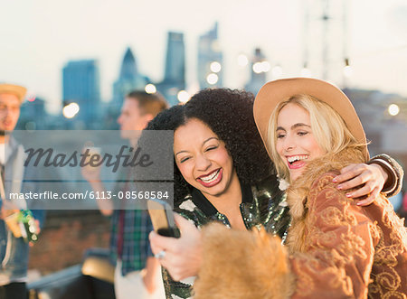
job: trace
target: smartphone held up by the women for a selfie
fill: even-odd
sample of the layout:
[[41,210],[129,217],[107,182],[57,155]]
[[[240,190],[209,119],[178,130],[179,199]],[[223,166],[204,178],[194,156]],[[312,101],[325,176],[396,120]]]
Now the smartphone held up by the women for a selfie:
[[154,230],[158,235],[173,238],[181,236],[175,225],[174,212],[166,201],[148,200],[147,208]]

